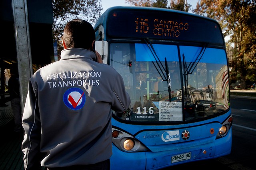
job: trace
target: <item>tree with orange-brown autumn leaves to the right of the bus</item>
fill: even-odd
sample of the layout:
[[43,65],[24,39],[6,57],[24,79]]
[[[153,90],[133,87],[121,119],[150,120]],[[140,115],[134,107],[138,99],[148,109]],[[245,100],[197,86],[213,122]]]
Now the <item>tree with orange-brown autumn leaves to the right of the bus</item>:
[[246,82],[256,80],[256,2],[255,0],[201,0],[193,12],[217,20],[224,36],[230,35],[233,53],[230,78]]

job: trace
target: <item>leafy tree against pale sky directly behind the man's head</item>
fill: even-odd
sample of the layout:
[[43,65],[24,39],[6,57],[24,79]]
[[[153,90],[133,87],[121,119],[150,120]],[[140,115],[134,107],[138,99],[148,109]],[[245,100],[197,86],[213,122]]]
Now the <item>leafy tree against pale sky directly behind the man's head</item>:
[[101,0],[52,0],[53,6],[53,38],[58,44],[58,55],[63,49],[61,37],[67,21],[74,18],[87,20],[92,25],[101,15]]

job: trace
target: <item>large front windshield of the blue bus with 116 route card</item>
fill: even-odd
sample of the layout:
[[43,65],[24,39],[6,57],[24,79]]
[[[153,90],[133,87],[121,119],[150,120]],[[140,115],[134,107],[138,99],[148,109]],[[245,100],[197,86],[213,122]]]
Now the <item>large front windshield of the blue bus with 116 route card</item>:
[[151,42],[110,43],[109,48],[110,65],[124,78],[131,98],[130,110],[114,112],[115,119],[177,123],[214,117],[229,108],[224,49]]

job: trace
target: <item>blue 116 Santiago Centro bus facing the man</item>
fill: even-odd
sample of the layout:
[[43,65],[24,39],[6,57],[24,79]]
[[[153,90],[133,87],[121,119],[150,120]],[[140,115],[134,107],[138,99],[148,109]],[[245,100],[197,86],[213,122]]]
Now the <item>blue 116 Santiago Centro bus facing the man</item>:
[[215,20],[116,6],[94,29],[96,50],[122,75],[131,98],[126,112],[112,114],[111,170],[161,169],[230,154],[228,61]]

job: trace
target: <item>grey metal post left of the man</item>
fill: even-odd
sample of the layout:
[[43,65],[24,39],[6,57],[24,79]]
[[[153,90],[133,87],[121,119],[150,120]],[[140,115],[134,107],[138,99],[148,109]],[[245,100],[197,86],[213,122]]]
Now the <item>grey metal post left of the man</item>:
[[14,33],[16,39],[17,64],[20,80],[20,101],[22,113],[28,93],[28,80],[32,76],[32,58],[28,29],[28,9],[26,0],[12,0]]

